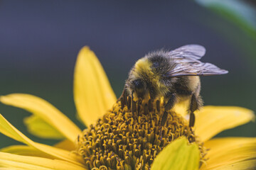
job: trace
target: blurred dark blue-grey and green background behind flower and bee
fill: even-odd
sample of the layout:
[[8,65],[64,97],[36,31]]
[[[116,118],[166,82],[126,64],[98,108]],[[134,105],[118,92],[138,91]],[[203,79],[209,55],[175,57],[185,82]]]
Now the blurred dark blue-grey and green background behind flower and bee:
[[[73,69],[82,46],[99,57],[119,96],[129,69],[146,52],[195,43],[207,49],[203,62],[230,72],[202,77],[205,105],[256,111],[256,32],[227,16],[218,6],[188,0],[0,1],[0,95],[44,98],[82,128],[73,103]],[[30,113],[3,104],[0,113],[32,140],[57,142],[26,132],[23,118]],[[218,136],[256,137],[256,125]],[[4,135],[0,139],[0,148],[18,144]]]

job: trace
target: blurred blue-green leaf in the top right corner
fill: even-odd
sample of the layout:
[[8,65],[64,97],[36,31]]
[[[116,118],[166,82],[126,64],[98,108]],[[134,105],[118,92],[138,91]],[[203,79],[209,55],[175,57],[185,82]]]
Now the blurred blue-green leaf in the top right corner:
[[196,0],[242,28],[256,39],[256,8],[241,0]]

